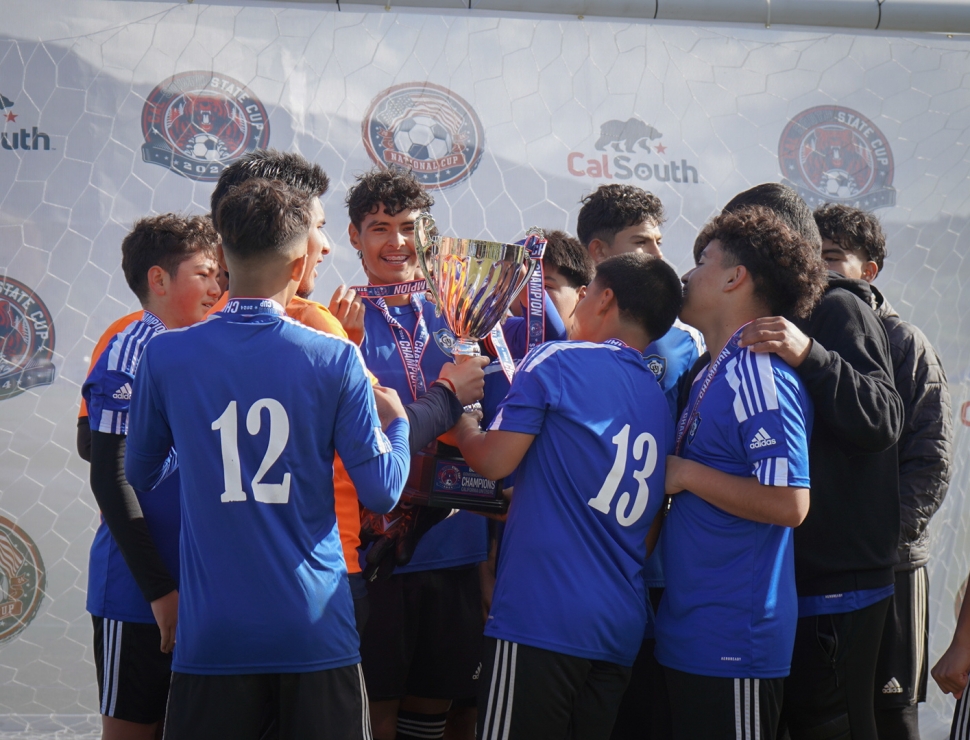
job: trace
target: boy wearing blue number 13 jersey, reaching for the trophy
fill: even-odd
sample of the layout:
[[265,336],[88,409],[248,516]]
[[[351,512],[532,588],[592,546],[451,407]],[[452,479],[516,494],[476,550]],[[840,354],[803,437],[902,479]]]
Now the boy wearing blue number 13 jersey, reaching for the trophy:
[[466,417],[468,463],[518,468],[485,628],[478,737],[608,738],[646,624],[646,536],[672,424],[640,347],[680,306],[669,265],[597,267],[572,338],[525,357],[489,430]]

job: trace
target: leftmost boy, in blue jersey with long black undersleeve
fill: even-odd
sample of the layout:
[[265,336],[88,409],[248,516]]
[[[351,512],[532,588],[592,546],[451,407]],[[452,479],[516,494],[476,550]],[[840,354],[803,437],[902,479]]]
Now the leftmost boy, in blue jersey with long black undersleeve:
[[148,341],[202,320],[219,297],[218,241],[201,216],[169,213],[135,224],[121,245],[122,268],[144,311],[111,339],[81,389],[91,490],[102,512],[87,609],[108,740],[155,737],[165,715],[178,609],[179,476],[146,495],[125,478],[132,385]]

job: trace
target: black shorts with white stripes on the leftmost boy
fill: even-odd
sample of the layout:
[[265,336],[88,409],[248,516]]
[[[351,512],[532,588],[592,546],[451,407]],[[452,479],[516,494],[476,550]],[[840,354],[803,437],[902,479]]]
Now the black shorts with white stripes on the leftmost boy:
[[101,714],[140,724],[165,716],[172,656],[159,650],[157,624],[92,615]]

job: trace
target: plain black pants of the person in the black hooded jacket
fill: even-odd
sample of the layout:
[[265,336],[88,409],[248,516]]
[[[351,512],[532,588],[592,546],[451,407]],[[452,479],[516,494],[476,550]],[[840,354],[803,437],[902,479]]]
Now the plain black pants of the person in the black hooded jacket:
[[872,686],[889,602],[798,620],[782,707],[792,740],[878,740]]

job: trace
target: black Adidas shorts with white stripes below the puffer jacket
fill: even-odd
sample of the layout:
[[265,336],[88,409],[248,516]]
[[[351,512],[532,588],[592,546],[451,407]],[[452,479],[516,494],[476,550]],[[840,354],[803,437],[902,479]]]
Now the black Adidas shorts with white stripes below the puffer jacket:
[[876,709],[926,701],[929,610],[926,566],[897,572],[876,661]]

